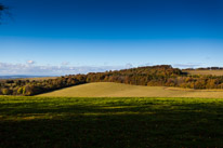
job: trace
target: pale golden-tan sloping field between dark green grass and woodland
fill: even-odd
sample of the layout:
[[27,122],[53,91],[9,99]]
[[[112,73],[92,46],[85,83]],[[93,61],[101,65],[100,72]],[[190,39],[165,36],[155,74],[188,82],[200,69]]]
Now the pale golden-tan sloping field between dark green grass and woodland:
[[223,98],[221,90],[191,90],[165,86],[141,86],[113,82],[87,83],[41,94],[67,97],[212,97]]

